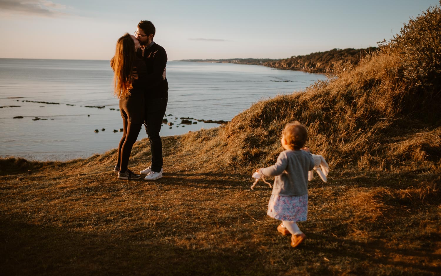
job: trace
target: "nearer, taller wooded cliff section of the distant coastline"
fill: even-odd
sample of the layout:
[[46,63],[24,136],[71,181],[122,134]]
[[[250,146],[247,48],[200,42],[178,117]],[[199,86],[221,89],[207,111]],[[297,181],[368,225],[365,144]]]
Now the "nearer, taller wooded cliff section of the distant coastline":
[[287,59],[268,61],[262,65],[310,73],[328,73],[333,71],[333,67],[336,64],[350,60],[351,64],[355,65],[359,62],[360,57],[376,50],[377,47],[366,49],[332,49],[326,52],[310,53],[305,56],[292,56]]

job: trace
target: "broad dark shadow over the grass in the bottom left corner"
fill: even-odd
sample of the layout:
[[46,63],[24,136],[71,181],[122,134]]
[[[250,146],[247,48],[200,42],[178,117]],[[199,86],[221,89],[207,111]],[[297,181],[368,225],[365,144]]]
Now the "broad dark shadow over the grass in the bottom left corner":
[[[152,233],[72,231],[0,217],[3,275],[269,275],[257,250],[188,250]],[[147,231],[147,230],[146,230]],[[246,271],[245,271],[246,270]]]

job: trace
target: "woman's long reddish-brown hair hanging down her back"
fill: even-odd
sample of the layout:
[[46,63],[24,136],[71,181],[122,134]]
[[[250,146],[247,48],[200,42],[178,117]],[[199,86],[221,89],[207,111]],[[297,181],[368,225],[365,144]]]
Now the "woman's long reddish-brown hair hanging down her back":
[[115,96],[119,99],[130,95],[135,57],[135,42],[130,34],[125,33],[116,42],[115,56],[110,60],[110,66],[115,72],[113,77]]

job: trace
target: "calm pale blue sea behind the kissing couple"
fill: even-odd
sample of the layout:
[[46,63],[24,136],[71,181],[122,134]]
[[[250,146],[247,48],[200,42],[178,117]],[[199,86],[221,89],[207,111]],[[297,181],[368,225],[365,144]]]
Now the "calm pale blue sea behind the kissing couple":
[[[0,59],[0,157],[68,160],[117,147],[121,132],[113,130],[122,128],[122,119],[112,78],[105,60]],[[218,126],[180,125],[180,117],[230,121],[254,102],[302,90],[325,76],[258,65],[169,61],[167,79],[166,118],[175,125],[164,124],[161,136]],[[142,129],[138,140],[144,137]]]

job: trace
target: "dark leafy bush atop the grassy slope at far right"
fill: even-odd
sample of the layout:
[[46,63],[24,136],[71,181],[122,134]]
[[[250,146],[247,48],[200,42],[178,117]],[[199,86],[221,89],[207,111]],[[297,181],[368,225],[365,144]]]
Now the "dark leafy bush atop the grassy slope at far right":
[[[441,1],[440,1],[441,4]],[[416,19],[410,19],[391,42],[381,43],[383,53],[396,53],[401,60],[401,75],[409,83],[409,111],[431,121],[441,117],[441,9],[431,7]],[[427,118],[426,118],[427,119]]]

